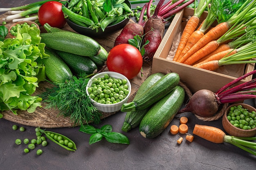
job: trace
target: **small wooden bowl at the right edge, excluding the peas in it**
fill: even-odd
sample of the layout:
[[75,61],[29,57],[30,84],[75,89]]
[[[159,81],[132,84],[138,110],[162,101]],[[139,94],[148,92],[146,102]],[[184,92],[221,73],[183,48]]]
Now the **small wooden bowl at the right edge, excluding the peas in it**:
[[256,111],[256,108],[248,104],[244,104],[244,103],[232,104],[225,110],[225,114],[222,117],[222,126],[226,130],[226,132],[231,136],[254,137],[256,135],[256,128],[253,128],[250,130],[243,130],[241,128],[237,128],[236,126],[232,125],[227,119],[227,113],[229,113],[230,108],[232,106],[238,106],[238,105],[242,105],[243,108],[248,109],[249,112]]

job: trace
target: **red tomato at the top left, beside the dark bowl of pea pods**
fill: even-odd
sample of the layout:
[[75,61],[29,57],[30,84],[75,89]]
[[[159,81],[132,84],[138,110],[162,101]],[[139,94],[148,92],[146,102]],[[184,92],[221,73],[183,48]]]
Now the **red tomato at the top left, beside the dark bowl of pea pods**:
[[45,2],[38,10],[38,21],[41,25],[48,23],[52,27],[63,27],[66,20],[62,12],[62,3],[57,1]]

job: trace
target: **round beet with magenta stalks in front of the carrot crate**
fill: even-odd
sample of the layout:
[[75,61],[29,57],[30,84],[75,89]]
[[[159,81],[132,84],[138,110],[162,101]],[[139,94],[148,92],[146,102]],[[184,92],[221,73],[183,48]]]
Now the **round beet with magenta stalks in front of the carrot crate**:
[[248,82],[230,88],[240,80],[255,73],[256,70],[234,79],[220,88],[216,93],[206,89],[195,92],[189,100],[189,103],[186,104],[185,108],[180,110],[178,113],[191,112],[200,117],[211,117],[217,113],[221,104],[256,98],[256,79],[252,79]]

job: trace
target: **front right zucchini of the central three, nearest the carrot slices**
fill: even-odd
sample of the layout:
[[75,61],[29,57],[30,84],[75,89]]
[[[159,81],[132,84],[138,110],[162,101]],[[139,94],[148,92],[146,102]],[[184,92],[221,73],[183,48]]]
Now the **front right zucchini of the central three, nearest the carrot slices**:
[[185,98],[184,88],[176,86],[168,95],[155,103],[139,124],[139,132],[145,138],[161,134],[180,110]]

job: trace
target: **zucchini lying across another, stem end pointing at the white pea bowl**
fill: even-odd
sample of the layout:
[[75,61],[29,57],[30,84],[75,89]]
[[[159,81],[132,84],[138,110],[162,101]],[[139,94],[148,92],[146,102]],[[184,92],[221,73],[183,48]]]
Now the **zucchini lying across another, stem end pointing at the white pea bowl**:
[[180,76],[177,73],[168,73],[159,79],[153,86],[148,88],[140,97],[130,103],[125,103],[121,107],[121,112],[142,110],[158,100],[162,99],[180,82]]

